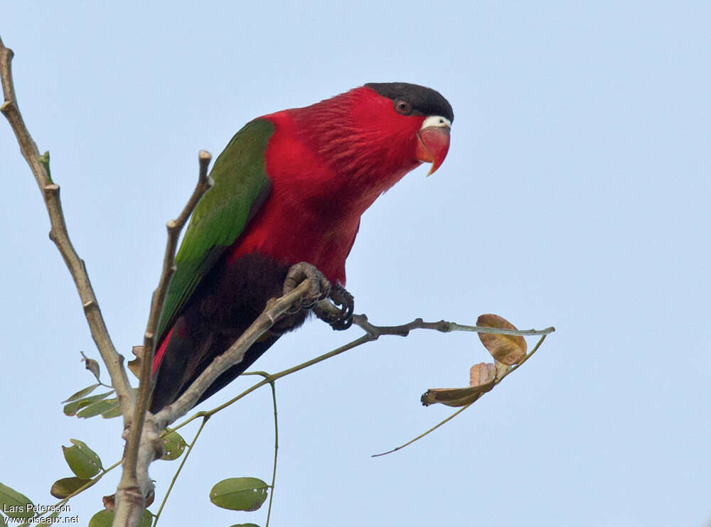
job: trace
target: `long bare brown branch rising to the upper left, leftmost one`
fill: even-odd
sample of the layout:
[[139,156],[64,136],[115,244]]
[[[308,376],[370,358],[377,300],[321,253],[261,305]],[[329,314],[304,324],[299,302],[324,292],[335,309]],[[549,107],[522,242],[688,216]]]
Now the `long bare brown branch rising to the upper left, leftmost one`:
[[109,332],[106,328],[104,318],[102,317],[99,303],[94,294],[84,261],[79,258],[69,239],[62,211],[62,203],[59,197],[59,185],[52,183],[48,177],[47,171],[40,160],[37,145],[27,130],[22,115],[20,114],[12,80],[11,61],[13,55],[12,50],[6,48],[2,40],[0,40],[0,77],[2,78],[2,89],[5,99],[0,107],[0,111],[9,121],[20,146],[20,151],[30,166],[37,185],[42,192],[52,226],[49,234],[50,239],[57,246],[74,279],[92,338],[109,371],[111,383],[114,389],[116,389],[122,413],[124,414],[125,424],[127,422],[127,416],[130,415],[130,411],[133,408],[134,393],[131,389],[131,384],[129,384],[126,369],[124,369],[123,366],[124,358],[116,351],[111,337],[109,337]]

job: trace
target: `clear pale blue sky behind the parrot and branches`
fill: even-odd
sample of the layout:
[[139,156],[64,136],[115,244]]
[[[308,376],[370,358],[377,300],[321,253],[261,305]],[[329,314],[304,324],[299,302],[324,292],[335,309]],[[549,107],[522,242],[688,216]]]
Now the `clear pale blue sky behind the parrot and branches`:
[[[365,82],[429,85],[454,107],[442,168],[363,217],[346,267],[356,310],[557,332],[454,422],[379,459],[449,415],[419,395],[466,385],[488,359],[476,336],[383,338],[280,381],[272,525],[698,526],[711,518],[710,21],[709,4],[677,2],[15,2],[0,35],[124,354],[198,149]],[[79,351],[97,353],[4,121],[0,159],[0,482],[51,504],[70,475],[60,444],[80,438],[110,464],[121,423],[61,412],[91,382]],[[311,322],[257,365],[358,335]],[[210,421],[160,524],[264,525],[208,492],[269,479],[271,405],[264,389]],[[176,466],[152,468],[159,496]],[[81,523],[118,475],[72,502]]]

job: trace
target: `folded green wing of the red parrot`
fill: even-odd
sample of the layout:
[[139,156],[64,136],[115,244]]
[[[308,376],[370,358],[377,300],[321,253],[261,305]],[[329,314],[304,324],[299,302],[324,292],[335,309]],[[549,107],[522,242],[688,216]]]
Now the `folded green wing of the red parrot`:
[[195,208],[176,255],[176,272],[166,295],[158,335],[162,339],[203,276],[242,234],[269,193],[264,160],[274,124],[255,119],[232,137],[210,177],[214,185]]

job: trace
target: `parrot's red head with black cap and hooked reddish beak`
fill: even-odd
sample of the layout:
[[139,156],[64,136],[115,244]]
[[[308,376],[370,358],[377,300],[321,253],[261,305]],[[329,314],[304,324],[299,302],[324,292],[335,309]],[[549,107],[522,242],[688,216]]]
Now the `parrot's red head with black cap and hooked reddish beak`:
[[432,163],[430,174],[437,170],[454,120],[439,92],[407,82],[370,82],[289,114],[341,183],[378,193],[421,163]]

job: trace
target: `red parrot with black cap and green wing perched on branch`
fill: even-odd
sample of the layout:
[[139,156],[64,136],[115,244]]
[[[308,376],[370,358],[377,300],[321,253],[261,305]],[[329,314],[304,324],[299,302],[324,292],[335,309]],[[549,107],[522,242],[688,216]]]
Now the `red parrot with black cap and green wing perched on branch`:
[[[175,258],[158,326],[153,413],[168,406],[277,298],[309,290],[221,374],[201,402],[251,366],[313,311],[334,329],[352,320],[346,257],[360,217],[406,173],[449,151],[454,113],[442,94],[370,82],[311,106],[264,115],[232,137],[210,170]],[[320,313],[330,298],[341,315]]]

